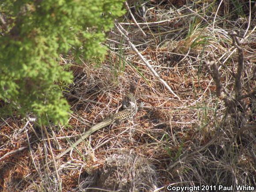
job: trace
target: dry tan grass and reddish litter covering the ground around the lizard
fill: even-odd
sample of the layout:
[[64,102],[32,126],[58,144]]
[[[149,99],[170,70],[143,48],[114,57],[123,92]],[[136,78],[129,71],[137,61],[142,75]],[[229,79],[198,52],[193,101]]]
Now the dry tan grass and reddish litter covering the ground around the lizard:
[[[240,1],[128,2],[147,36],[130,24],[129,14],[119,20],[121,26],[181,101],[154,78],[114,28],[105,44],[105,60],[81,59],[82,64],[76,64],[72,56],[60,57],[61,64],[71,64],[75,77],[65,88],[69,94],[64,94],[73,111],[70,127],[48,127],[48,140],[33,121],[25,126],[27,121],[15,114],[1,119],[0,157],[27,149],[0,160],[0,189],[136,192],[165,191],[169,184],[255,186],[255,100],[245,99],[252,128],[241,131],[216,97],[204,64],[213,51],[226,65],[219,65],[222,84],[233,95],[231,71],[236,72],[238,55],[228,32],[240,30],[245,34],[243,94],[256,90],[255,15],[250,11],[255,4],[250,9],[242,2],[241,9],[233,11],[232,2]],[[88,124],[115,113],[130,83],[136,86],[138,103],[144,102],[133,124],[104,128],[79,144],[78,151],[59,159],[56,169],[46,165],[50,151],[56,156],[74,140],[64,136],[77,136],[89,129]]]

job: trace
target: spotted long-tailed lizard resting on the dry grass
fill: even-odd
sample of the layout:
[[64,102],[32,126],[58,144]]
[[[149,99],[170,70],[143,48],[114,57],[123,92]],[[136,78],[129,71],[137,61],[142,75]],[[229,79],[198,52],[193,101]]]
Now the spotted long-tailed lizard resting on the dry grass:
[[54,159],[57,160],[61,158],[64,154],[67,154],[69,151],[71,151],[73,148],[75,148],[79,143],[81,143],[84,139],[86,139],[90,134],[93,132],[96,132],[97,130],[104,128],[105,126],[108,126],[110,124],[113,124],[117,120],[127,120],[129,118],[132,118],[138,110],[138,107],[136,105],[136,100],[132,94],[127,94],[127,97],[129,99],[129,105],[126,109],[112,114],[109,117],[105,118],[102,122],[94,125],[91,127],[87,132],[85,132],[81,138],[79,138],[75,143],[73,143],[68,149],[66,149],[64,152],[61,154],[57,155]]

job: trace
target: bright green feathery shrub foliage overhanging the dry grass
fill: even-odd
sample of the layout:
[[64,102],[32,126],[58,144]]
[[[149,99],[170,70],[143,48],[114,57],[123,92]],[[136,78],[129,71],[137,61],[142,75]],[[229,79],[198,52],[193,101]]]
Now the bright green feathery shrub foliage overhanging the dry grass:
[[58,55],[70,49],[84,59],[104,56],[102,30],[124,13],[122,1],[2,0],[0,99],[5,109],[33,113],[42,124],[66,123],[69,105],[59,84],[71,83],[72,74],[58,64]]

